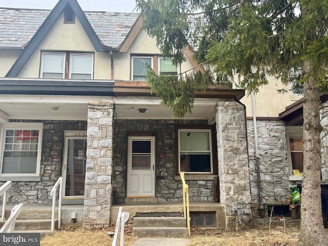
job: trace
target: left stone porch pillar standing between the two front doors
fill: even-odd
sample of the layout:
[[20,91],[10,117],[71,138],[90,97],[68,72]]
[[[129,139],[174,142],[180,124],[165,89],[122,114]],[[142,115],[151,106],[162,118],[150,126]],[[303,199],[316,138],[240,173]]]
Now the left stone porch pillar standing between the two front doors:
[[114,101],[89,101],[84,227],[110,224]]

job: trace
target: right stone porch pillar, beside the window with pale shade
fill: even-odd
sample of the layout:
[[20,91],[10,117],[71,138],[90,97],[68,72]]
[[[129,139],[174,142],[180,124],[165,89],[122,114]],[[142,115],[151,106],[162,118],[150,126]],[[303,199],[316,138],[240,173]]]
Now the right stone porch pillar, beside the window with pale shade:
[[235,225],[231,214],[235,202],[251,202],[250,171],[244,107],[235,101],[221,101],[216,110],[220,202],[226,212],[226,226]]

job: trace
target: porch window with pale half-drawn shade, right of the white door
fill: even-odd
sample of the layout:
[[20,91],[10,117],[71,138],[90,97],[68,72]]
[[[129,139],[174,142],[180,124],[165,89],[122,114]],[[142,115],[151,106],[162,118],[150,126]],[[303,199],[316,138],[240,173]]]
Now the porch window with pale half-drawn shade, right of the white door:
[[211,129],[178,129],[179,173],[213,173]]

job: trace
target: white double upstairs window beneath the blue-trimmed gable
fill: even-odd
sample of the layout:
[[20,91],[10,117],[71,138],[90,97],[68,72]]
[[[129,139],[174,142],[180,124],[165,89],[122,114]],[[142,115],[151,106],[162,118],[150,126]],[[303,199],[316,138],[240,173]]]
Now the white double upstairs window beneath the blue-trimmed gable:
[[93,78],[93,54],[42,52],[41,78]]

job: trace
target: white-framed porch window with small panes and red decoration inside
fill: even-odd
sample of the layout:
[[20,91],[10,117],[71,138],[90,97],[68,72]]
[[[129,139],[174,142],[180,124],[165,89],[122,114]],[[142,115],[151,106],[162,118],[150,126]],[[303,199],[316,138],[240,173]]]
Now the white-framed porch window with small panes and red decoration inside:
[[0,129],[0,176],[39,176],[43,124],[13,122]]

